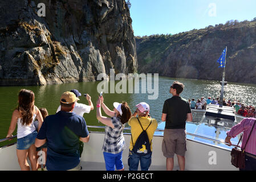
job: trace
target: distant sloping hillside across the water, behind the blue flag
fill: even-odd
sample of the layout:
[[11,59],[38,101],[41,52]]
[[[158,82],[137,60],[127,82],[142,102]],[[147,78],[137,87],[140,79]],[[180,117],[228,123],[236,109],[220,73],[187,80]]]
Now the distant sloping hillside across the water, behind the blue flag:
[[221,80],[217,60],[227,46],[226,81],[256,84],[256,20],[230,21],[176,35],[136,37],[139,72]]

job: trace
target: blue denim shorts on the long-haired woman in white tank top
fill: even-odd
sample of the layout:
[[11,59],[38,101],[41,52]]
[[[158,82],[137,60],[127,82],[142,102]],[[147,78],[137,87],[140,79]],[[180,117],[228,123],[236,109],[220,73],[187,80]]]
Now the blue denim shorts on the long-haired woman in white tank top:
[[18,150],[27,150],[30,148],[32,144],[35,143],[35,138],[37,136],[37,131],[27,135],[26,137],[22,137],[17,139],[17,149]]

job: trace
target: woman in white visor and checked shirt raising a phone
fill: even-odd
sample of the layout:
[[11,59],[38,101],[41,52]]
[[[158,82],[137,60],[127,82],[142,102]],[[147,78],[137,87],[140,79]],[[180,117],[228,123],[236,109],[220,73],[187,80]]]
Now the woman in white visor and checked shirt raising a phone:
[[[105,167],[107,171],[115,171],[115,167],[116,170],[123,171],[124,165],[122,161],[122,154],[123,150],[126,148],[123,129],[125,123],[127,123],[131,118],[131,110],[129,109],[127,102],[114,102],[114,109],[112,111],[108,109],[103,101],[103,96],[100,96],[97,100],[96,117],[101,123],[106,125],[102,147]],[[104,112],[111,118],[101,115],[101,106]]]

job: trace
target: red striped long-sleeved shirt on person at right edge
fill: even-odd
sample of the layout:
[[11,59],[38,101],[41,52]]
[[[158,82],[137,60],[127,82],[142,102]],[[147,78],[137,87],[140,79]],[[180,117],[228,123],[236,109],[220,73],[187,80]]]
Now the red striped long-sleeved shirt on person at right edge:
[[[253,131],[251,132],[251,136],[246,144],[247,138],[249,137],[251,127],[253,127],[253,123],[255,122],[255,118],[245,118],[237,125],[233,126],[230,131],[227,131],[227,136],[235,138],[239,133],[243,132],[242,139],[242,149],[245,149],[245,152],[256,155],[256,124],[254,126]],[[246,144],[246,148],[245,148]]]

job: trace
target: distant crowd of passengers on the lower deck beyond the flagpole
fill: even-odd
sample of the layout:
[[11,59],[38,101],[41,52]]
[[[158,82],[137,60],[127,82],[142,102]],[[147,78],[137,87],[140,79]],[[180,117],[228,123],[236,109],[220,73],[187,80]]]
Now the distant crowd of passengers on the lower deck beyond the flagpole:
[[[206,110],[206,106],[209,104],[220,105],[220,98],[215,99],[212,97],[208,97],[208,99],[206,100],[205,97],[201,97],[201,100],[197,99],[197,102],[194,100],[194,98],[192,98],[192,100],[189,99],[188,102],[190,104],[191,109]],[[233,107],[235,109],[235,113],[238,115],[242,115],[243,117],[256,118],[255,106],[251,106],[251,105],[245,106],[239,100],[231,101],[229,99],[226,101],[225,98],[223,100],[222,105]]]

